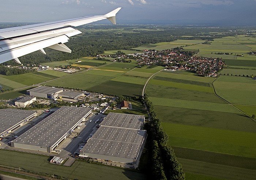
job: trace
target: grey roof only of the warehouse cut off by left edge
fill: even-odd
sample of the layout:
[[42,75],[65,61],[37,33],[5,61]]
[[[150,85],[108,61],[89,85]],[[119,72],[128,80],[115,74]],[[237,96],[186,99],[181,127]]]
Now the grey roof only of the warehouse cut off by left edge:
[[36,111],[21,109],[0,109],[0,132],[7,130],[34,114]]

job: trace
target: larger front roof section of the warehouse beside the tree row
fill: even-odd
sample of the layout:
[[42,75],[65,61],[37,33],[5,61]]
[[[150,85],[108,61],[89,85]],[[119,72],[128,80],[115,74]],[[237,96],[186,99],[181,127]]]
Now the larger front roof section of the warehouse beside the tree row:
[[145,135],[145,130],[101,126],[81,152],[136,159]]

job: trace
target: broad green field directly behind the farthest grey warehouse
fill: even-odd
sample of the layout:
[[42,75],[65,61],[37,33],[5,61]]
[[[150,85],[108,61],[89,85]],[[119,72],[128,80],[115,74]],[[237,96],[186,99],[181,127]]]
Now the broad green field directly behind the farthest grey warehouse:
[[69,77],[64,77],[56,81],[46,83],[47,86],[66,87],[71,89],[88,90],[90,87],[101,84],[113,77],[102,75],[91,75],[87,73],[74,74]]

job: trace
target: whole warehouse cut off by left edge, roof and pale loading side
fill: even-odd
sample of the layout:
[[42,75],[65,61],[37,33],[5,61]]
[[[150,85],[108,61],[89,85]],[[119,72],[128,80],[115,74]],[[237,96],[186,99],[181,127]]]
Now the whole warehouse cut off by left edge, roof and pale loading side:
[[36,111],[0,109],[0,137],[6,136],[36,116]]

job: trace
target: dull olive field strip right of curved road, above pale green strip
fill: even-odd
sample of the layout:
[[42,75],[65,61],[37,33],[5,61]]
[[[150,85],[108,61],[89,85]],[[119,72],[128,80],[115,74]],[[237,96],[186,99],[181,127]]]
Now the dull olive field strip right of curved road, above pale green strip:
[[[156,92],[157,91],[157,92]],[[148,84],[146,93],[150,97],[180,99],[200,102],[227,103],[213,93]]]

